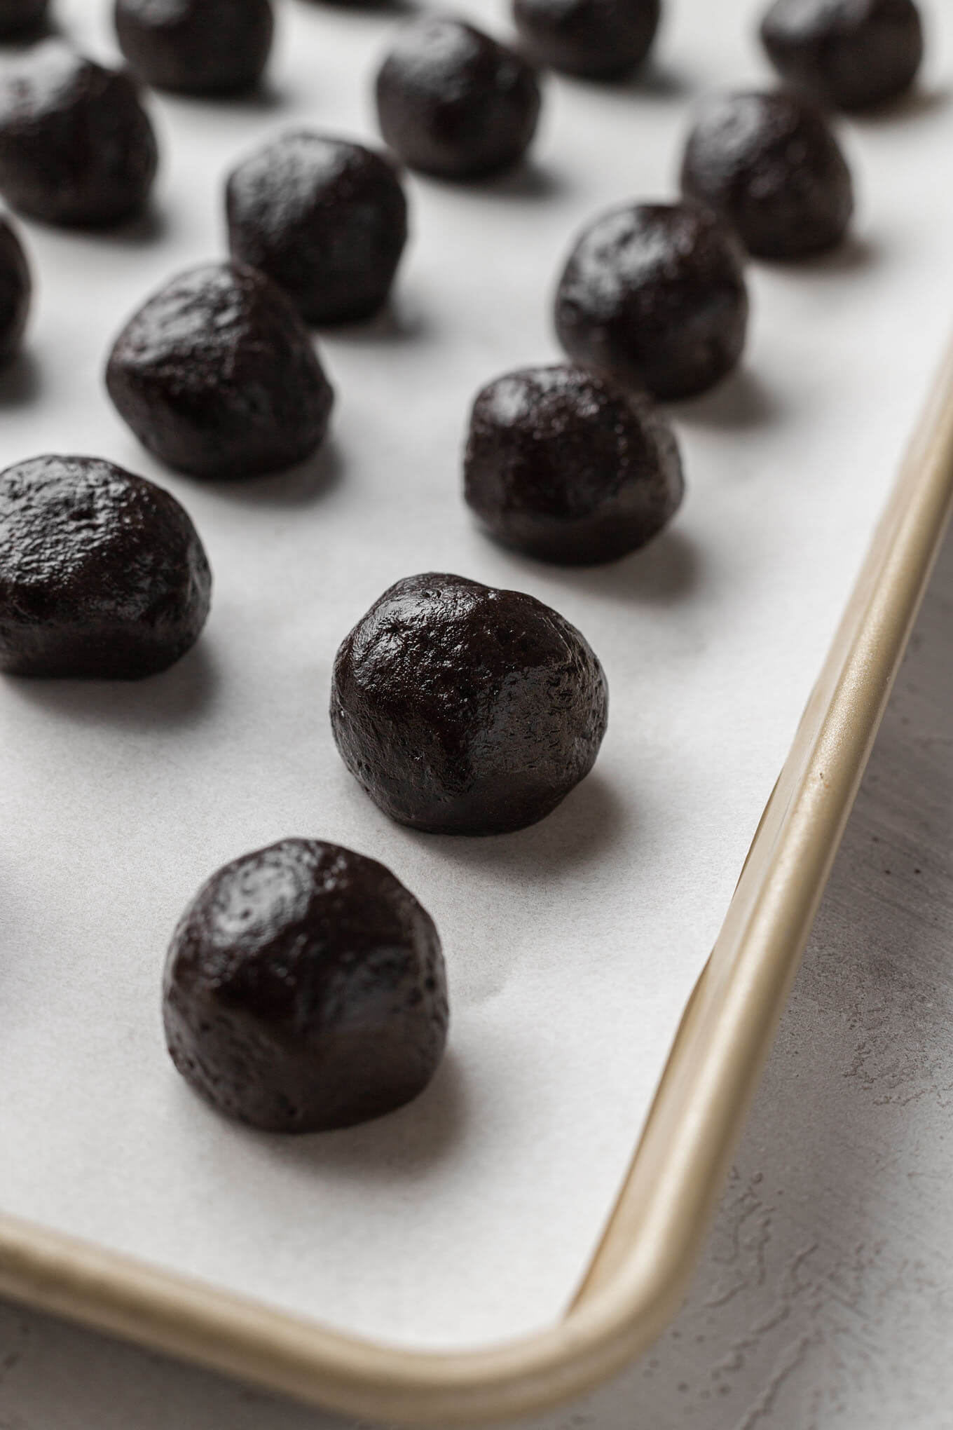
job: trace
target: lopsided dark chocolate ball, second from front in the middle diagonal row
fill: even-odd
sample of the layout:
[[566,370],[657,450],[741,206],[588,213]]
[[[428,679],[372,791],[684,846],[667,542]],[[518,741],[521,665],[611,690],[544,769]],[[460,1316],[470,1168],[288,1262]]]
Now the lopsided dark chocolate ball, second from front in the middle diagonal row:
[[189,269],[150,297],[116,339],[106,386],[157,458],[226,480],[303,462],[334,400],[290,300],[240,263]]

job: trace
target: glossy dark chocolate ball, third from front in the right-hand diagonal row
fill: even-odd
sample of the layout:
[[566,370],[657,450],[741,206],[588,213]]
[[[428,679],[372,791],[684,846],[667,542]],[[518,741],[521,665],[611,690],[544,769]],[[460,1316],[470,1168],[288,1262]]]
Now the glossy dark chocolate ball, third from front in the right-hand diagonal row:
[[566,566],[617,561],[666,526],[683,490],[672,428],[606,373],[524,368],[473,403],[464,495],[506,546]]

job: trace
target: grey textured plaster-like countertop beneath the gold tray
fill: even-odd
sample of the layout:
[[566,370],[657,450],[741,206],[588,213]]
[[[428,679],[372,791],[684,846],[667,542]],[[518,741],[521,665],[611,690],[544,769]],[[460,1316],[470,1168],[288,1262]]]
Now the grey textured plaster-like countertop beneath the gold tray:
[[[952,639],[947,541],[686,1306],[537,1430],[953,1427]],[[0,1430],[133,1427],[344,1430],[0,1306]]]

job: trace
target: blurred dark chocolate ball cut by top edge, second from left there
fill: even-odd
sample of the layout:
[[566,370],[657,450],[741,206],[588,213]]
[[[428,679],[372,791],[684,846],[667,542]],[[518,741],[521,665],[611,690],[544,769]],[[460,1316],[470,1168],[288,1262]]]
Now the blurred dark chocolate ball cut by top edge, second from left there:
[[157,89],[253,89],[271,50],[270,0],[116,0],[116,34],[136,74]]

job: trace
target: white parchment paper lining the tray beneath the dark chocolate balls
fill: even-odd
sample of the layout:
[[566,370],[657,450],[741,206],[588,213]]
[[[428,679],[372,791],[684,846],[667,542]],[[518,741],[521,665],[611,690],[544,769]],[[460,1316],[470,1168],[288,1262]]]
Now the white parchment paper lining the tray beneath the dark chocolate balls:
[[[110,53],[107,6],[60,3]],[[469,6],[484,23],[502,9]],[[600,207],[672,192],[686,106],[766,79],[749,0],[682,0],[639,84],[550,80],[533,164],[410,180],[393,312],[320,346],[330,448],[289,476],[203,486],[151,462],[100,382],[127,313],[221,252],[220,182],[293,123],[374,136],[380,11],[286,3],[257,100],[156,99],[151,220],[21,225],[29,353],[0,378],[0,462],[90,452],[163,480],[216,573],[200,646],[136,686],[0,688],[0,1208],[343,1328],[420,1346],[559,1314],[624,1173],[684,1000],[833,633],[953,310],[944,76],[854,123],[856,237],[752,270],[746,365],[676,410],[689,495],[670,533],[562,572],[497,551],[459,496],[469,402],[557,356],[550,292]],[[326,716],[340,638],[391,581],[456,571],[574,621],[612,692],[594,774],[547,821],[466,841],[399,829]],[[410,1108],[281,1140],[223,1123],[164,1054],[164,947],[197,884],[283,835],[384,859],[434,915],[450,1054]]]

